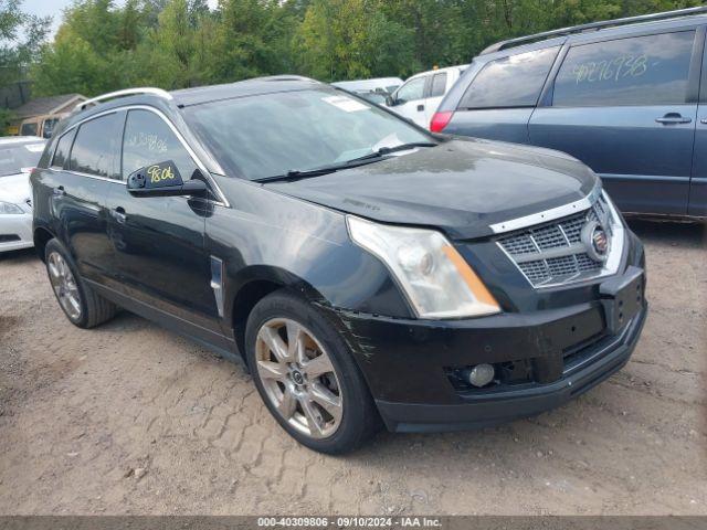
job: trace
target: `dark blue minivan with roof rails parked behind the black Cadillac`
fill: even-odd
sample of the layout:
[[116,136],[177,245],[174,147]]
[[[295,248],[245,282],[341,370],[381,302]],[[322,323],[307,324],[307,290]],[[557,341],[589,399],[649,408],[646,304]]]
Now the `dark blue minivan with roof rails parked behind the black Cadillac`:
[[566,151],[600,174],[623,212],[705,218],[705,12],[494,44],[444,98],[431,128]]

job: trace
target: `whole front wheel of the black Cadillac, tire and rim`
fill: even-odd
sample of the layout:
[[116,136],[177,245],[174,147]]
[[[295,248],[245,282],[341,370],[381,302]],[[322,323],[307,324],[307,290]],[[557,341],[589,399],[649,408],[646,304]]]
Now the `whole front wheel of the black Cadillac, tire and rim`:
[[[288,349],[291,337],[304,348]],[[348,347],[309,303],[286,290],[260,300],[247,319],[245,349],[265,405],[300,444],[319,453],[348,453],[380,428],[380,416]]]

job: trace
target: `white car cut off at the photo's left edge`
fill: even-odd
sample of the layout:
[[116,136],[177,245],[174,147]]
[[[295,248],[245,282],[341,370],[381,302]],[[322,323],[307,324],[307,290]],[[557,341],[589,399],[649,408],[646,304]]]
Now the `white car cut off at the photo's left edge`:
[[44,144],[34,136],[0,138],[0,252],[34,246],[30,171]]

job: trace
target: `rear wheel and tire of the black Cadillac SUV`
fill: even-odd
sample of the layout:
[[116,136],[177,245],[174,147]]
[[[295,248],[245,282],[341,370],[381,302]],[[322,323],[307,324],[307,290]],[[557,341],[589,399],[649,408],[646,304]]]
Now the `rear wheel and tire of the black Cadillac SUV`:
[[[96,294],[78,275],[78,267],[56,240],[50,240],[44,251],[44,263],[59,306],[68,321],[80,328],[93,328],[110,320],[118,308]],[[60,271],[61,269],[61,271]],[[56,276],[56,273],[63,273]],[[68,278],[65,283],[61,278]],[[65,295],[68,292],[68,297]],[[71,300],[70,300],[71,298]]]

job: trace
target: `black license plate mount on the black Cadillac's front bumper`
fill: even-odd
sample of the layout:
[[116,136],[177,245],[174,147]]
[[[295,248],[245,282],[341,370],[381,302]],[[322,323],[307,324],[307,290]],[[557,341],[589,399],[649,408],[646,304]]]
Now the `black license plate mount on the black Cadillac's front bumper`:
[[644,287],[643,269],[633,266],[629,267],[623,276],[599,286],[610,332],[618,332],[639,314],[643,307]]

